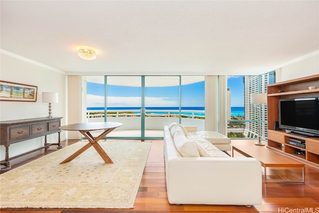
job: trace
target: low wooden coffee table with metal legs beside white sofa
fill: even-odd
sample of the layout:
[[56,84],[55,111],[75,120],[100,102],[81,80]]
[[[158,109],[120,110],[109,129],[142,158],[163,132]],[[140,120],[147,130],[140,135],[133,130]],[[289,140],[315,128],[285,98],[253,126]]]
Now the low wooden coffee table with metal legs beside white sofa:
[[[301,167],[303,169],[303,180],[302,181],[289,181],[289,182],[297,182],[297,183],[305,183],[305,164],[295,161],[291,158],[283,156],[279,153],[271,151],[266,147],[261,146],[232,146],[232,156],[234,156],[234,150],[238,153],[250,157],[255,158],[260,161],[261,165],[265,168],[265,183],[267,183],[267,167]],[[286,182],[286,181],[271,181],[271,182]]]

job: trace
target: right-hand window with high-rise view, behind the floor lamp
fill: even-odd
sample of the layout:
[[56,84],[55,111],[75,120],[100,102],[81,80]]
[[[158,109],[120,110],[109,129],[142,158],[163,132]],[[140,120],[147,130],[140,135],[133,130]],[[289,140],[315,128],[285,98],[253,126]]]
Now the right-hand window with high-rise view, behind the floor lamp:
[[275,71],[255,76],[228,76],[230,114],[228,114],[228,137],[257,138],[258,109],[260,108],[261,137],[267,139],[267,104],[250,103],[253,93],[267,93],[267,85],[276,82]]

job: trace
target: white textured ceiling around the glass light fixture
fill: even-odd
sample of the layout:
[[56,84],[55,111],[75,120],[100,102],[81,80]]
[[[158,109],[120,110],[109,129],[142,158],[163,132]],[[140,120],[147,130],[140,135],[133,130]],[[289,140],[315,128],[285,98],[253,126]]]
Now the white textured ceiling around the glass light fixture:
[[2,52],[67,74],[249,75],[319,50],[318,0],[0,3]]

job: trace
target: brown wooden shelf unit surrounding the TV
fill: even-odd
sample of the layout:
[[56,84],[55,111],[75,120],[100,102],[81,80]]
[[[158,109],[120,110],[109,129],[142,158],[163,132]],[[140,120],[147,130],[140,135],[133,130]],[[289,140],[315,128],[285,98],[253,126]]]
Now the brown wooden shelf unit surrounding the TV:
[[[308,89],[317,86],[316,89]],[[319,97],[319,74],[267,86],[268,148],[319,168],[319,137],[301,137],[275,130],[279,99]],[[306,141],[306,148],[288,144],[291,139]]]

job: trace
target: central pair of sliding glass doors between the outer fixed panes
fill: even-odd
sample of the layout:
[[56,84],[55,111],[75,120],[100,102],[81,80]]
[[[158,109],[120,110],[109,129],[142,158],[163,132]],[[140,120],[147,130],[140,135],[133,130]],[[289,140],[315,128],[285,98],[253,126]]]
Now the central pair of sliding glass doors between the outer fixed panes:
[[179,122],[179,76],[107,76],[106,85],[106,120],[123,123],[108,137],[162,138]]

